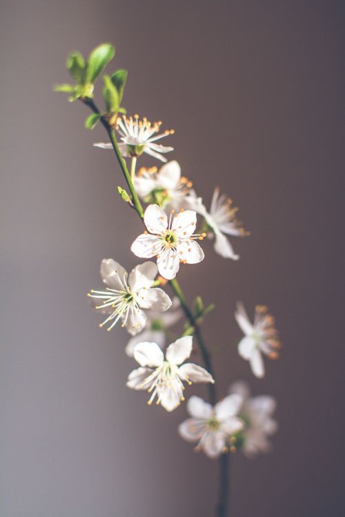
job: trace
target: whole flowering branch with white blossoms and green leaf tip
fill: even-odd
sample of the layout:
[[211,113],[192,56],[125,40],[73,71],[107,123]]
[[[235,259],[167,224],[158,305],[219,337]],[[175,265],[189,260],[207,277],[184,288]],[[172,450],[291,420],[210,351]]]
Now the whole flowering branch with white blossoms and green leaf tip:
[[[206,237],[213,239],[217,254],[238,260],[229,236],[245,236],[248,232],[237,220],[233,201],[220,194],[217,187],[207,210],[193,190],[193,183],[181,176],[179,163],[166,163],[164,154],[173,148],[157,141],[173,134],[173,130],[159,133],[161,122],[152,124],[146,117],[139,119],[137,114],[125,116],[121,102],[126,70],[103,75],[105,111],[97,108],[93,101],[94,83],[114,54],[115,48],[109,43],[92,50],[88,59],[79,52],[72,52],[66,65],[75,85],[63,84],[55,89],[68,92],[70,101],[80,99],[92,111],[86,119],[86,128],[93,129],[100,121],[106,129],[110,143],[95,145],[115,152],[130,195],[121,187],[117,190],[146,226],[130,249],[139,258],[157,259],[157,264],[146,260],[128,274],[115,260],[103,259],[100,272],[106,287],[91,290],[88,296],[95,308],[106,315],[100,327],[107,325],[111,330],[121,321],[121,326],[130,334],[125,352],[139,367],[128,375],[127,386],[148,392],[149,405],[156,401],[171,412],[186,400],[188,385],[208,384],[209,403],[191,396],[186,404],[190,418],[179,425],[178,432],[188,442],[197,443],[196,450],[204,451],[209,458],[219,458],[216,516],[226,517],[230,483],[228,453],[241,449],[250,457],[270,448],[268,436],[277,429],[272,418],[275,401],[268,396],[250,397],[248,386],[241,382],[231,385],[228,395],[218,401],[210,352],[200,329],[214,304],[204,308],[197,296],[191,309],[176,276],[181,263],[195,264],[204,259],[204,251],[197,241],[204,241]],[[119,142],[116,132],[121,138]],[[137,172],[137,159],[144,153],[164,162],[161,169],[141,167]],[[130,172],[125,157],[131,158]],[[140,199],[146,203],[145,210]],[[168,208],[170,214],[166,213]],[[195,233],[197,215],[203,219],[201,234]],[[170,283],[175,294],[172,300],[163,289],[166,283]],[[184,332],[163,352],[167,336],[174,335],[169,327],[177,323],[182,313],[186,316]],[[281,346],[273,316],[265,306],[257,305],[252,323],[244,306],[238,303],[235,319],[244,333],[238,345],[239,355],[250,363],[253,374],[261,378],[265,374],[263,356],[276,359]],[[203,366],[186,362],[193,351],[193,336]]]

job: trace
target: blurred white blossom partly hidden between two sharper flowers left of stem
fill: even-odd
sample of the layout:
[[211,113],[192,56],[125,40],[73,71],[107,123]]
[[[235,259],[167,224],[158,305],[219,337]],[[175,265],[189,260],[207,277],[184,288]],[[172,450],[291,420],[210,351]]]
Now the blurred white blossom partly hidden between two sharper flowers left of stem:
[[166,312],[149,309],[146,312],[147,321],[143,332],[132,336],[132,338],[128,340],[125,348],[128,357],[133,356],[135,345],[143,341],[152,341],[163,349],[166,345],[166,330],[172,327],[172,325],[175,325],[182,314],[183,312],[177,296],[172,298],[171,307]]

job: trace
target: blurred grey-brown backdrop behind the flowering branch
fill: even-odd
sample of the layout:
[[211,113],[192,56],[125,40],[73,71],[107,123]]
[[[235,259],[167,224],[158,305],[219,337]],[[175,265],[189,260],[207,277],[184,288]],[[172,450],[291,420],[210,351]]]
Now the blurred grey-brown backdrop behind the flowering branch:
[[[103,257],[139,262],[119,166],[92,148],[102,128],[52,92],[68,52],[103,41],[129,69],[128,112],[175,128],[169,157],[252,232],[232,241],[240,261],[205,243],[179,274],[217,303],[219,393],[244,378],[278,401],[273,454],[232,458],[231,515],[344,515],[344,15],[333,0],[2,0],[1,517],[213,515],[217,463],[177,436],[186,408],[126,388],[128,335],[100,330],[86,298]],[[262,381],[237,355],[237,300],[277,319]]]

